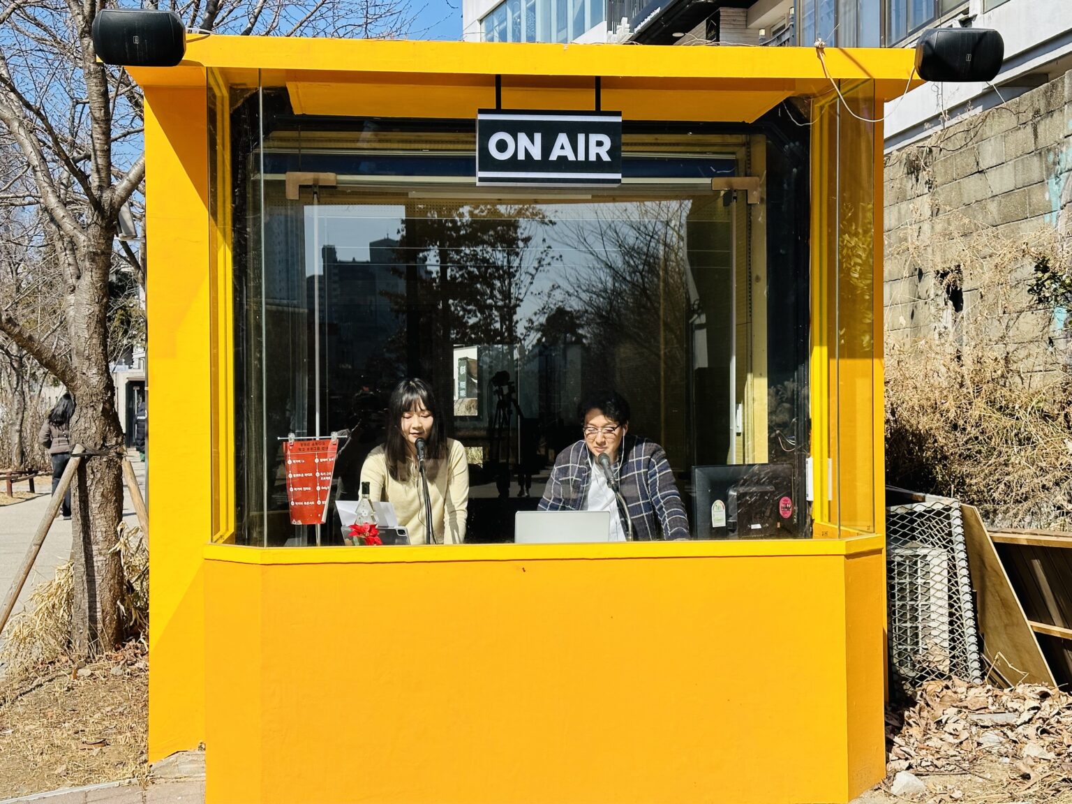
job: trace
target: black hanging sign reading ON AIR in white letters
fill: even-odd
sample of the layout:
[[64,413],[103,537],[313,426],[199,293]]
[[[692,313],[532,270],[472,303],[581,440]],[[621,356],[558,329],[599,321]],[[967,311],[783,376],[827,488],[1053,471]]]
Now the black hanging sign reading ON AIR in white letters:
[[622,113],[480,111],[477,184],[621,184]]

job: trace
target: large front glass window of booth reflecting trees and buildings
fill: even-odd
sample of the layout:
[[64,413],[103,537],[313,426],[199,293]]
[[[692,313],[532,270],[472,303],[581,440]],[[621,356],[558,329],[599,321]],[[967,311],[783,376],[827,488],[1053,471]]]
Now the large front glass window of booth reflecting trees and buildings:
[[[463,445],[466,541],[512,539],[608,387],[688,537],[807,535],[806,129],[627,129],[621,187],[522,191],[475,187],[472,128],[316,131],[266,90],[262,139],[258,100],[232,120],[240,544],[342,544],[406,376]],[[732,175],[765,192],[713,188]],[[331,432],[328,521],[292,524],[283,444]]]

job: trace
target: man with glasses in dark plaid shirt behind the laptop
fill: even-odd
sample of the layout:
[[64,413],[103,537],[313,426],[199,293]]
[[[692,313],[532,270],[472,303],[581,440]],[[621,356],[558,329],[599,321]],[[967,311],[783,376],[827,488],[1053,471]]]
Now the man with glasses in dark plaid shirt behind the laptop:
[[609,391],[579,413],[584,437],[559,455],[539,510],[611,511],[611,541],[690,538],[666,452],[628,434],[629,403]]

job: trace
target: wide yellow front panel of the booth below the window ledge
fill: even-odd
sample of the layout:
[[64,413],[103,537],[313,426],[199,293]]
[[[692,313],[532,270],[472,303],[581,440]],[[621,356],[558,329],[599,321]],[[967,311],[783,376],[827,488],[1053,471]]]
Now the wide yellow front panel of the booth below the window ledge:
[[207,801],[848,801],[845,562],[210,559]]

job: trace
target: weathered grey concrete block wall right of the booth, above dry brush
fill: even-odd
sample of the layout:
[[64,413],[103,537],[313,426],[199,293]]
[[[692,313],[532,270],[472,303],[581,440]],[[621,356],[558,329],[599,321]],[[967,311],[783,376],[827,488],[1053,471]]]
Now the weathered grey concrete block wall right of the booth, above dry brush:
[[[995,238],[1063,240],[1072,253],[1070,177],[1072,73],[944,128],[939,122],[932,136],[888,153],[887,342],[958,337],[965,316],[974,316],[976,340],[992,343],[965,347],[1008,348],[1029,372],[1068,368],[1070,311],[1043,309],[1027,292],[1030,258],[1006,283],[1001,309],[980,289],[993,281],[987,249]],[[942,281],[951,271],[959,277],[963,312]]]

